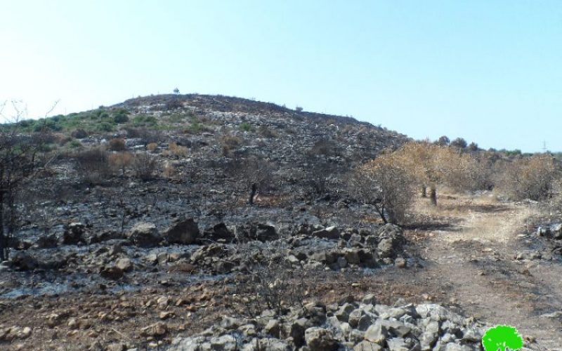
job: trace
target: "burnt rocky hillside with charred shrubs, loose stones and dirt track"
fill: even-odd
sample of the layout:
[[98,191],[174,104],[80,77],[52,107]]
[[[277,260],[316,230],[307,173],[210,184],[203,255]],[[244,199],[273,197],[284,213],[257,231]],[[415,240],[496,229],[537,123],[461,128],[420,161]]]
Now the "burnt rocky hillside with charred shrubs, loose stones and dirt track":
[[[13,195],[8,350],[480,350],[492,323],[520,325],[530,348],[559,335],[542,315],[562,289],[534,277],[560,270],[547,155],[408,143],[220,95],[135,98],[1,132],[0,156],[22,155],[7,168],[17,186],[0,179]],[[362,196],[350,186],[373,159],[419,170],[431,153],[438,204],[400,183],[406,168],[386,179],[412,190],[402,227],[377,214],[389,202],[372,195],[385,186],[376,172],[361,168]],[[514,187],[509,174],[540,186],[513,192],[525,201],[492,194]],[[548,206],[526,198],[544,191]]]

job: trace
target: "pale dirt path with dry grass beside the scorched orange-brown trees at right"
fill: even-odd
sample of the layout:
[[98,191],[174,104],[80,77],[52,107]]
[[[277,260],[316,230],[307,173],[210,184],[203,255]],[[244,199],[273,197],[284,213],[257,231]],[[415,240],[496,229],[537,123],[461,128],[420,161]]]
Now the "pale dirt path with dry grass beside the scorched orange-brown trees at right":
[[[440,289],[467,314],[490,324],[516,326],[544,350],[562,350],[560,319],[542,314],[562,310],[562,263],[516,260],[518,252],[536,245],[530,218],[532,205],[502,204],[490,197],[445,199],[438,208],[424,203],[421,216],[455,225],[413,231],[425,267],[414,269],[414,282]],[[440,220],[440,223],[442,221]]]

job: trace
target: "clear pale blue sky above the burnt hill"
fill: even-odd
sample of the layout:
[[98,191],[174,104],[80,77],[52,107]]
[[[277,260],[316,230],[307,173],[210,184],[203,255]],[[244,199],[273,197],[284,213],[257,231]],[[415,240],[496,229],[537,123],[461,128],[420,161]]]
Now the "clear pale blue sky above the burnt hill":
[[562,150],[562,1],[0,1],[0,100],[30,117],[177,86]]

